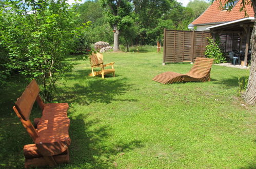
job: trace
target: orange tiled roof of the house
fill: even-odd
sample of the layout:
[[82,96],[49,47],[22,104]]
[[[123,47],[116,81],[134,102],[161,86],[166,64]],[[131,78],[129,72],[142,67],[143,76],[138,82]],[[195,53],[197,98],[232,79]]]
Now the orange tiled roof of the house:
[[[222,4],[224,4],[225,0],[222,0]],[[219,1],[214,1],[212,5],[206,9],[206,11],[196,18],[192,24],[193,25],[201,25],[201,24],[211,24],[211,23],[225,23],[230,22],[232,20],[238,20],[244,18],[244,12],[239,12],[240,4],[242,0],[240,0],[231,11],[220,10]],[[249,17],[254,17],[253,8],[250,5],[246,5],[247,14]]]

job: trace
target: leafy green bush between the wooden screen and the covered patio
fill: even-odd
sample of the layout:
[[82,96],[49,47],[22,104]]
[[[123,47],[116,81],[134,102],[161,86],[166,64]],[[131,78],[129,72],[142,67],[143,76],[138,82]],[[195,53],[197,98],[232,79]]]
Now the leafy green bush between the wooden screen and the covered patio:
[[226,58],[224,57],[220,47],[219,40],[214,41],[212,37],[207,38],[209,41],[209,45],[206,46],[205,55],[208,58],[214,59],[214,64],[221,64],[226,62]]

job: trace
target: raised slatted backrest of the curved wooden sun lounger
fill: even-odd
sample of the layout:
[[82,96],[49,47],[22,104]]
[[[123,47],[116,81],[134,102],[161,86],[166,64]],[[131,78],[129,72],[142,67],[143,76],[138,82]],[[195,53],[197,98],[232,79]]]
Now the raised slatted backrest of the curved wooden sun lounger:
[[211,58],[196,57],[193,67],[191,68],[189,73],[198,73],[200,75],[206,75],[211,70],[213,60],[214,59]]

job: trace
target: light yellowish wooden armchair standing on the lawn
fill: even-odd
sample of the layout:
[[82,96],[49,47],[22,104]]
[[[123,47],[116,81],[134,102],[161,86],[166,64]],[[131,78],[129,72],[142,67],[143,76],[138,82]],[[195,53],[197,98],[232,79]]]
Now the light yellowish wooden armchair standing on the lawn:
[[[102,78],[104,78],[105,74],[113,73],[113,77],[115,77],[115,70],[114,70],[114,62],[111,62],[109,64],[104,65],[103,64],[103,54],[101,53],[93,53],[90,55],[90,64],[91,64],[91,72],[89,76],[97,76],[102,75]],[[111,66],[112,69],[104,69],[107,66]],[[100,71],[93,71],[93,68],[101,68]]]

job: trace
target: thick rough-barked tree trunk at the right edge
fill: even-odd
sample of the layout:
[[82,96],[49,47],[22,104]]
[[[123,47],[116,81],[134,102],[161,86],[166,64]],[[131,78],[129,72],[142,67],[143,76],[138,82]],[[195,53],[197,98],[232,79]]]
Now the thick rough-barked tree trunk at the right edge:
[[[256,18],[256,0],[251,0],[254,18]],[[243,95],[245,102],[248,104],[255,104],[256,101],[256,20],[251,33],[251,67],[248,79],[248,86]]]

